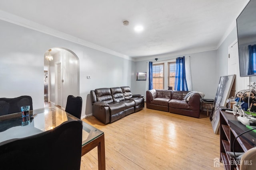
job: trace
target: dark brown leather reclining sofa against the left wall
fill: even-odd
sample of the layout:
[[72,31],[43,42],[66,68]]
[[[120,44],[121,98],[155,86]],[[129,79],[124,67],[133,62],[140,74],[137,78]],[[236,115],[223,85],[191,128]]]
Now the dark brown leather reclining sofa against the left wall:
[[98,88],[90,91],[92,115],[102,123],[111,123],[144,108],[144,96],[132,95],[129,86]]

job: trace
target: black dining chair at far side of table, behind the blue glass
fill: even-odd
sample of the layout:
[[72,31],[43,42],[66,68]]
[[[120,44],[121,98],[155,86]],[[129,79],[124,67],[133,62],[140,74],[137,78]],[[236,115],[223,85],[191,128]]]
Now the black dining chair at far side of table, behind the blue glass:
[[17,98],[0,98],[0,116],[20,112],[21,106],[30,106],[33,110],[31,96],[19,96]]

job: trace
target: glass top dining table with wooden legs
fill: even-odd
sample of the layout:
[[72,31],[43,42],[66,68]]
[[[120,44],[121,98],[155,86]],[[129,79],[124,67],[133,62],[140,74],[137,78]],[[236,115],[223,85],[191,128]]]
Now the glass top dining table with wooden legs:
[[[70,119],[78,119],[54,106],[30,110],[28,117],[22,113],[0,116],[0,144],[9,139],[23,138],[54,129]],[[99,169],[105,169],[104,132],[82,121],[82,156],[98,146]],[[91,143],[96,143],[92,145]]]

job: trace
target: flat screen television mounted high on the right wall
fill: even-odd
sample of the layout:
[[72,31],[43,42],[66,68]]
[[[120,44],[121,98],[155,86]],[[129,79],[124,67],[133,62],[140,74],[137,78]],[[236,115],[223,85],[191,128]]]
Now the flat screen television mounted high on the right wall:
[[256,0],[236,19],[240,77],[256,76]]

